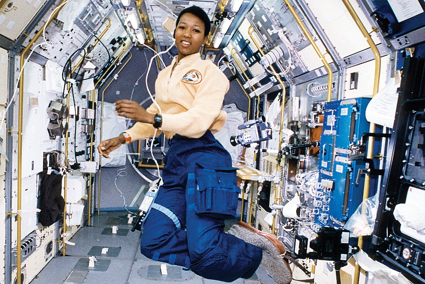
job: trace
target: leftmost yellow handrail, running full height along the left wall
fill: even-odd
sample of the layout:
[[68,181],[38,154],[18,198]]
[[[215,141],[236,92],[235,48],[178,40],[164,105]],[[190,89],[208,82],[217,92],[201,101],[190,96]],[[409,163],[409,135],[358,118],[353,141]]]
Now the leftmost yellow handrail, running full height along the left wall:
[[43,33],[43,30],[45,27],[50,25],[50,23],[53,21],[53,19],[59,14],[59,11],[63,8],[64,3],[67,0],[63,0],[62,3],[60,3],[59,8],[51,15],[51,17],[48,19],[47,22],[40,28],[40,30],[37,32],[37,34],[31,39],[31,41],[28,43],[26,48],[23,50],[20,58],[20,70],[22,71],[21,76],[19,78],[19,118],[18,118],[18,167],[17,167],[17,174],[18,174],[18,188],[17,188],[17,232],[16,232],[16,246],[17,246],[17,256],[16,256],[16,281],[17,283],[21,283],[21,215],[20,211],[22,210],[22,131],[23,131],[23,102],[24,102],[24,64],[25,64],[25,56],[28,53],[28,51],[31,49],[31,47],[34,45],[34,43],[37,41],[37,39],[40,38],[40,36]]

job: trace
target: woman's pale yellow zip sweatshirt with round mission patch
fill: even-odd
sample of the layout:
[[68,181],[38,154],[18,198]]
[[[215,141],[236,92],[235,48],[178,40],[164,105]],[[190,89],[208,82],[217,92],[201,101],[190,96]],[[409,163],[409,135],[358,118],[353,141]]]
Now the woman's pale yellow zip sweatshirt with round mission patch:
[[[162,126],[167,138],[174,134],[199,138],[210,129],[214,134],[223,128],[226,112],[221,110],[229,80],[210,60],[199,53],[185,56],[180,62],[174,57],[171,65],[161,70],[155,82],[155,101],[161,107]],[[174,70],[172,70],[172,67]],[[147,112],[159,113],[155,104]],[[131,140],[152,137],[152,124],[137,122],[126,132]]]

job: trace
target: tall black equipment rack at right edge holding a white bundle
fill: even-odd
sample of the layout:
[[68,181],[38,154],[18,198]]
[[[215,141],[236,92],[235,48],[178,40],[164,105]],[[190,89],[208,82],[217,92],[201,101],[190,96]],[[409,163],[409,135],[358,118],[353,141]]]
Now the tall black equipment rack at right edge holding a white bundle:
[[[425,284],[425,230],[420,230],[423,220],[415,215],[425,208],[424,78],[425,59],[406,57],[369,250],[377,260],[422,284]],[[400,218],[398,212],[404,217]]]

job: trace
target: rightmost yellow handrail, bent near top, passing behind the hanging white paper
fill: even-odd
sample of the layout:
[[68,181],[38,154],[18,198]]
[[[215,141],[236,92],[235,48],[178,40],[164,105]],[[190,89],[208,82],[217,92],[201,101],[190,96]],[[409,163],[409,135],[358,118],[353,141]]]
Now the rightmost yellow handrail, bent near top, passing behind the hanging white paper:
[[[373,92],[372,97],[375,96],[378,93],[379,90],[379,80],[380,80],[380,73],[381,73],[381,56],[379,54],[378,48],[376,47],[372,37],[366,30],[365,26],[363,25],[362,21],[360,20],[359,16],[357,15],[356,11],[354,11],[353,6],[351,6],[350,2],[348,0],[342,0],[344,5],[346,6],[348,12],[350,13],[351,17],[353,18],[354,22],[356,23],[357,27],[360,29],[360,31],[363,34],[363,37],[365,37],[366,41],[368,42],[369,47],[371,48],[371,51],[374,54],[375,57],[375,79],[374,79],[374,85],[373,85]],[[374,133],[375,132],[375,124],[371,123],[369,126],[369,132]],[[374,148],[374,138],[369,137],[368,140],[368,151],[366,154],[366,157],[368,159],[373,159],[373,148]],[[363,188],[363,200],[369,197],[369,189],[370,189],[370,176],[365,175],[365,185]],[[364,208],[362,209],[362,211]],[[360,247],[360,249],[363,248],[363,236],[359,236],[357,245]],[[354,267],[354,279],[353,284],[358,284],[360,279],[360,266],[356,262],[356,265]]]

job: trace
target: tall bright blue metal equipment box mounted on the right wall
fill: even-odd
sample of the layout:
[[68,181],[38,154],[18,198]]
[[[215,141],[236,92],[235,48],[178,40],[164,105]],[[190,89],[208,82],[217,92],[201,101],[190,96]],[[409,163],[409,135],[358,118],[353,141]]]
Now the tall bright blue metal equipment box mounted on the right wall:
[[315,223],[342,227],[363,200],[366,146],[365,118],[371,98],[326,102],[320,136],[319,186],[314,204]]

